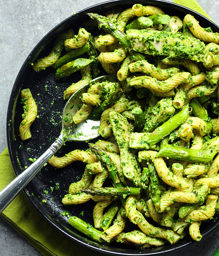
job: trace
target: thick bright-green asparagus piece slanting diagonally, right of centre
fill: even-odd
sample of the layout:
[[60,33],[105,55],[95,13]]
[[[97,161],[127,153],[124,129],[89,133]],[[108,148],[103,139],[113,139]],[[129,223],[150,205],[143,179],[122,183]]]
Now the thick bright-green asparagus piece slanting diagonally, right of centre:
[[168,121],[155,129],[149,136],[150,147],[166,138],[172,131],[187,120],[189,116],[189,105],[186,105],[180,112],[171,117]]

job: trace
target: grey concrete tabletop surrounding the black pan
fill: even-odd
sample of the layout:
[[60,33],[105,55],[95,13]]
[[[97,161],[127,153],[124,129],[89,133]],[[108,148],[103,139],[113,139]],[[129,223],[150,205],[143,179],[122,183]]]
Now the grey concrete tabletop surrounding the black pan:
[[[102,0],[0,0],[0,152],[7,146],[6,114],[16,75],[35,44],[55,25]],[[197,0],[219,25],[219,1]],[[212,256],[219,245],[219,230],[201,242],[177,251],[178,256]],[[96,254],[96,253],[95,253]],[[0,256],[39,256],[20,234],[0,218]],[[168,254],[169,256],[175,253]]]

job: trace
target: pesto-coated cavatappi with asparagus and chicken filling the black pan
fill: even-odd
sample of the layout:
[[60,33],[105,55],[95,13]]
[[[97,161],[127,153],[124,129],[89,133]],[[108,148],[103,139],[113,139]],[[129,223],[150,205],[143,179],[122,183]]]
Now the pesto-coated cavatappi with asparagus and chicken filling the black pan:
[[[90,224],[98,238],[89,236],[98,242],[137,248],[174,244],[185,228],[200,241],[202,221],[219,214],[219,34],[190,14],[169,16],[159,7],[137,3],[105,16],[88,15],[100,24],[98,35],[93,38],[85,28],[76,35],[68,30],[33,65],[37,72],[53,65],[60,79],[60,70],[73,70],[83,54],[77,69],[81,77],[66,86],[64,100],[100,74],[118,78],[91,83],[73,117],[77,125],[99,114],[103,138],[86,151],[48,161],[55,168],[84,163],[62,203],[95,202]],[[28,89],[22,98],[24,140],[31,137],[37,107]],[[130,222],[134,230],[128,230]]]

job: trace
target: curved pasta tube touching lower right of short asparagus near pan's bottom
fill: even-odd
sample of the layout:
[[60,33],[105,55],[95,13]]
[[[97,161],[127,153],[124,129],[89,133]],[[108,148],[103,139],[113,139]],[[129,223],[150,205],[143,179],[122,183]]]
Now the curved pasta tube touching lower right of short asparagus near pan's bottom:
[[126,218],[124,218],[121,215],[121,209],[120,209],[114,224],[108,229],[104,230],[100,234],[100,237],[103,238],[103,240],[110,242],[112,238],[114,238],[115,236],[117,236],[123,231],[123,229],[125,228],[125,225],[126,225]]

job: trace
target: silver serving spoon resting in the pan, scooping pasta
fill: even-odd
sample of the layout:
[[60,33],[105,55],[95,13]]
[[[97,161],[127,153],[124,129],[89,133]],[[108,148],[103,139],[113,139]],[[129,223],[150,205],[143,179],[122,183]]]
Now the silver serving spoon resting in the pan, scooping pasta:
[[66,141],[86,141],[99,136],[100,120],[87,118],[78,125],[72,122],[77,107],[82,105],[81,94],[85,93],[92,83],[108,80],[115,82],[116,75],[100,76],[84,84],[69,98],[62,113],[61,133],[57,140],[34,163],[17,176],[0,192],[0,213],[12,202],[28,182],[39,172],[43,165],[63,146]]

